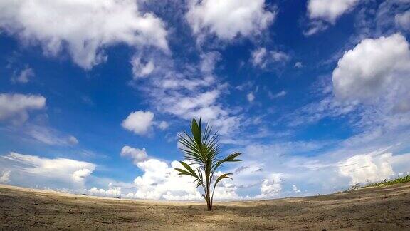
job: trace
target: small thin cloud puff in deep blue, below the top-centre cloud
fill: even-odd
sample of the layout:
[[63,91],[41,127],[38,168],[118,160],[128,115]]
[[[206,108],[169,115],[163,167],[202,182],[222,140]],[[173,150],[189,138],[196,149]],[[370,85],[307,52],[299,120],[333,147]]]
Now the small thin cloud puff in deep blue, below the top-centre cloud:
[[290,56],[283,51],[267,51],[266,48],[257,48],[252,52],[251,56],[253,66],[262,69],[283,66],[290,59]]

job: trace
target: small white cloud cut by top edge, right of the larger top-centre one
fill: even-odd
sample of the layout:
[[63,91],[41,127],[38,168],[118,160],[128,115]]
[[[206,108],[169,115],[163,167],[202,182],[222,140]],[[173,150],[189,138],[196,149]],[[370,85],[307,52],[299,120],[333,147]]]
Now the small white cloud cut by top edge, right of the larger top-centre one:
[[308,15],[310,19],[323,19],[335,24],[345,12],[351,10],[359,0],[309,0]]

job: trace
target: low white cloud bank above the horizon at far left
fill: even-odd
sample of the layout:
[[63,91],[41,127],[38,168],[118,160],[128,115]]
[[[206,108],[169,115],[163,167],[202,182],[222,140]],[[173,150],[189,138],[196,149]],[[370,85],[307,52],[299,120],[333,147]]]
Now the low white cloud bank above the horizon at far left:
[[95,170],[95,164],[67,158],[43,158],[9,153],[0,156],[0,168],[14,172],[9,183],[28,187],[70,188],[79,190]]

